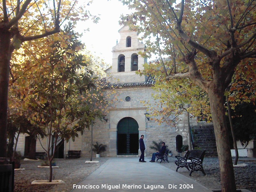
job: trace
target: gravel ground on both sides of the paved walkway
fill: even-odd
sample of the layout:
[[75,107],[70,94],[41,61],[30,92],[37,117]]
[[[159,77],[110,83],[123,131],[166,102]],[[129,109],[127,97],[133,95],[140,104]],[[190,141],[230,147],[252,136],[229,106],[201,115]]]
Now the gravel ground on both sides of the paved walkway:
[[[60,168],[53,168],[53,176],[55,180],[63,179],[65,184],[61,185],[32,185],[33,180],[47,180],[49,176],[49,168],[38,168],[41,162],[23,161],[21,167],[25,168],[24,171],[15,171],[14,191],[15,192],[65,192],[71,191],[72,185],[79,183],[90,173],[95,171],[100,165],[107,161],[108,158],[95,158],[99,163],[85,164],[89,160],[82,157],[80,159],[57,159],[56,163]],[[175,157],[168,157],[169,162],[162,162],[161,165],[169,169],[176,170],[177,166],[174,164]],[[149,161],[148,159],[147,161]],[[150,163],[150,162],[148,162]],[[159,162],[156,162],[160,164]],[[254,162],[241,162],[248,164],[245,167],[235,167],[235,178],[237,188],[246,188],[252,192],[256,192],[256,163]],[[196,180],[201,185],[209,189],[220,189],[220,169],[217,157],[205,157],[203,163],[204,171],[193,172],[191,179]],[[180,174],[189,177],[189,171],[186,168],[178,170]]]

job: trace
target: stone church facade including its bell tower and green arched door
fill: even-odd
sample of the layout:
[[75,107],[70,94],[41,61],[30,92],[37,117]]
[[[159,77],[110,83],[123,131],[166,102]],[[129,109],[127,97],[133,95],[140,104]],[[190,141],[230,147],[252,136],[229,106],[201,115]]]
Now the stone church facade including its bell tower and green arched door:
[[[144,52],[145,45],[138,40],[136,32],[127,26],[119,30],[120,41],[113,47],[112,66],[107,69],[106,80],[108,86],[105,92],[114,91],[118,100],[109,108],[105,121],[95,120],[93,124],[93,144],[107,145],[107,150],[100,156],[137,156],[139,152],[140,135],[144,135],[146,146],[145,155],[150,156],[155,150],[150,149],[153,141],[164,141],[173,154],[178,154],[182,145],[188,145],[188,121],[186,115],[180,116],[178,125],[158,124],[147,114],[152,112],[145,107],[143,101],[158,105],[153,94],[157,94],[152,87],[154,78],[135,74],[138,69],[143,69],[147,62],[139,52]],[[109,98],[111,99],[111,98]],[[190,125],[198,125],[195,120]],[[26,136],[20,136],[17,151],[26,155],[28,143]],[[41,141],[44,147],[48,138]],[[75,142],[65,141],[59,148],[56,158],[64,158],[68,150],[81,150],[82,156],[90,156],[91,129],[85,130]],[[36,152],[44,152],[40,142],[36,143]]]

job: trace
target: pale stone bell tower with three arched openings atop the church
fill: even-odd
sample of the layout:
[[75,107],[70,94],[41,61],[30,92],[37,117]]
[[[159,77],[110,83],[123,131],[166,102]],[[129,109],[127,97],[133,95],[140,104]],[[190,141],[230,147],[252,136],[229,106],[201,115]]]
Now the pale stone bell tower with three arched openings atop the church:
[[140,43],[138,34],[128,26],[119,29],[120,41],[112,48],[112,69],[108,73],[111,83],[140,83],[145,82],[144,76],[135,74],[143,69],[146,62],[138,52],[144,52],[145,44]]

